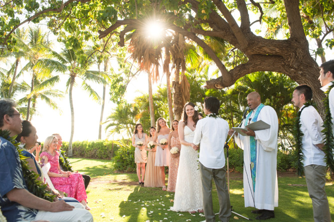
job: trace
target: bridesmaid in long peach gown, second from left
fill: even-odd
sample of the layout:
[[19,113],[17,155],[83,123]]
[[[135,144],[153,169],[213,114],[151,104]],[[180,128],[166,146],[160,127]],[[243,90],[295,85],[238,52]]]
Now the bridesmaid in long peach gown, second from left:
[[160,179],[160,168],[155,166],[155,154],[156,154],[156,146],[150,149],[147,144],[153,141],[155,135],[155,128],[152,126],[150,129],[150,134],[147,139],[145,149],[148,151],[148,158],[146,164],[146,173],[145,173],[145,185],[146,187],[162,187],[164,186],[162,180]]

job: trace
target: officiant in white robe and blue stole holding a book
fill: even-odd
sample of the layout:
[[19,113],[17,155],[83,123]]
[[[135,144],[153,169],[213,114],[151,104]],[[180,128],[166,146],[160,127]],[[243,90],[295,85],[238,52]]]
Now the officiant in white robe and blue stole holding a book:
[[[247,95],[247,104],[251,112],[246,116],[242,127],[259,120],[270,128],[253,131],[242,130],[246,136],[235,132],[236,144],[244,150],[243,189],[245,207],[252,206],[252,213],[261,214],[256,219],[265,220],[275,217],[274,207],[278,206],[277,185],[277,135],[278,118],[275,110],[261,103],[257,92]],[[232,135],[233,129],[228,134]],[[255,205],[254,205],[255,204]]]

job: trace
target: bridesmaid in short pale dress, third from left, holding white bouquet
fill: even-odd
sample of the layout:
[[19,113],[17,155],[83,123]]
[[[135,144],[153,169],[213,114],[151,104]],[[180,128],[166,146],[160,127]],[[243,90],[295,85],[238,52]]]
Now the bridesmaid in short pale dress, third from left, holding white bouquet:
[[165,166],[169,166],[169,150],[167,143],[162,145],[160,144],[161,139],[168,139],[168,134],[170,129],[166,125],[164,118],[160,117],[157,120],[157,132],[153,137],[153,144],[157,146],[157,153],[155,156],[155,166],[160,166],[160,179],[163,182],[162,190],[166,190],[165,185]]

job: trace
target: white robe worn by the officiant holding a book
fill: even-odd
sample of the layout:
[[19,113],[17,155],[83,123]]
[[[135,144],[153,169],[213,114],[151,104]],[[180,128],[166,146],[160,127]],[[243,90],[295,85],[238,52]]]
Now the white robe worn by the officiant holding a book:
[[[255,131],[256,140],[256,180],[255,194],[250,171],[249,136],[238,134],[235,142],[244,150],[243,189],[245,207],[254,206],[257,209],[273,210],[278,206],[277,185],[277,134],[278,119],[275,110],[264,106],[258,114],[257,121],[262,120],[270,125],[269,129]],[[252,123],[252,121],[250,122]],[[242,126],[245,125],[245,121]],[[250,189],[251,187],[251,189]],[[254,197],[254,200],[253,200]]]

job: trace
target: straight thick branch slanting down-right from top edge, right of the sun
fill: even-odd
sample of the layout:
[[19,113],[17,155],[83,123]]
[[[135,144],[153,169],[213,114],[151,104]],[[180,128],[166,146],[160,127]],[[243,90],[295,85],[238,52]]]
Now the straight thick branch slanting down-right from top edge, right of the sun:
[[219,0],[212,0],[212,2],[217,6],[217,8],[223,14],[223,16],[225,17],[229,26],[231,27],[232,32],[235,35],[235,38],[238,40],[238,43],[239,43],[239,46],[240,46],[238,48],[239,49],[245,48],[247,46],[247,40],[246,40],[245,36],[243,35],[241,29],[239,28],[238,24],[235,22],[233,16],[231,15],[231,13],[226,8],[225,4],[223,4],[223,2],[221,2]]

